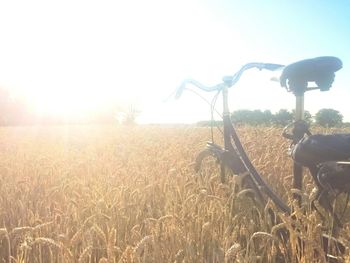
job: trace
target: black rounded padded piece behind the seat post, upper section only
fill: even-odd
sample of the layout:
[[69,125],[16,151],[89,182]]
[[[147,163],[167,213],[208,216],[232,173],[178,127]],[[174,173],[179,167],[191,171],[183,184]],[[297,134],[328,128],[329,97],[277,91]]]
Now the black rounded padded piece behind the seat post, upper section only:
[[350,133],[307,136],[294,146],[292,157],[304,166],[348,160],[350,159]]

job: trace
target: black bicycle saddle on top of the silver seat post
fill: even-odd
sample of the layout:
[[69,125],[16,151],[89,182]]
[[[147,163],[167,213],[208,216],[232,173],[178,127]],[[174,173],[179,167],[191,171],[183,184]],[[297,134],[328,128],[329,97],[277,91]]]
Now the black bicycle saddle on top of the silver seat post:
[[332,86],[334,73],[342,66],[342,61],[336,57],[301,60],[284,68],[280,84],[296,95],[306,91],[308,82],[315,82],[321,91],[326,91]]

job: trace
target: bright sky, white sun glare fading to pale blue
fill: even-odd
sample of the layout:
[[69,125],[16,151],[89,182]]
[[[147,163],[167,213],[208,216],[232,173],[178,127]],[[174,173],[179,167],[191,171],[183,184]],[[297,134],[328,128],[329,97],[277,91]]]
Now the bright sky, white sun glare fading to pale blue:
[[[0,0],[0,87],[39,114],[134,105],[140,123],[191,123],[210,108],[192,92],[169,98],[183,79],[214,85],[248,62],[336,56],[343,69],[332,89],[306,93],[305,109],[350,121],[349,14],[344,0]],[[273,76],[247,72],[230,110],[293,109]]]

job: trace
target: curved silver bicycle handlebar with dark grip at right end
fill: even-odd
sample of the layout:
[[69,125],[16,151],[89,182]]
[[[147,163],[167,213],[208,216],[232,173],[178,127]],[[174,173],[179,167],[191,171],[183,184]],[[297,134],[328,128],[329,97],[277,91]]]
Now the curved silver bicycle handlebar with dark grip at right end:
[[284,67],[284,65],[272,64],[272,63],[256,63],[256,62],[248,63],[248,64],[245,64],[243,67],[241,67],[241,69],[239,71],[237,71],[233,76],[225,76],[225,77],[223,77],[222,83],[219,83],[219,84],[217,84],[215,86],[211,86],[211,87],[205,86],[194,79],[186,79],[182,82],[180,87],[177,89],[175,98],[178,99],[181,97],[182,92],[186,88],[187,84],[192,84],[192,85],[196,86],[197,88],[199,88],[203,91],[207,91],[207,92],[215,91],[215,90],[222,90],[225,87],[230,88],[230,87],[234,86],[241,78],[243,72],[248,70],[248,69],[258,68],[259,70],[266,69],[266,70],[274,71],[274,70],[281,69],[283,67]]

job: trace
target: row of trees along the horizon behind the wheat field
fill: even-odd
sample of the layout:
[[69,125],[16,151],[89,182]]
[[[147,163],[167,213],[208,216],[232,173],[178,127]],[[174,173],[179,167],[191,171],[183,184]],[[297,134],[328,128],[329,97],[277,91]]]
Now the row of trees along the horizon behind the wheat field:
[[[123,109],[118,105],[99,112],[91,113],[85,119],[67,120],[60,116],[38,116],[26,106],[23,101],[11,97],[11,94],[0,88],[0,126],[31,125],[31,124],[66,124],[66,123],[123,123],[134,124],[140,111],[134,106]],[[249,125],[280,125],[285,126],[294,119],[294,111],[281,109],[276,113],[270,110],[237,110],[231,114],[236,124]],[[342,126],[343,115],[334,109],[321,109],[314,116],[305,111],[305,120],[324,127]],[[198,125],[209,125],[210,121],[199,122]],[[349,124],[346,124],[349,126]]]

